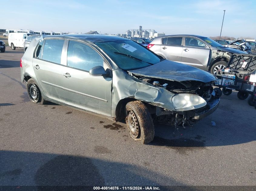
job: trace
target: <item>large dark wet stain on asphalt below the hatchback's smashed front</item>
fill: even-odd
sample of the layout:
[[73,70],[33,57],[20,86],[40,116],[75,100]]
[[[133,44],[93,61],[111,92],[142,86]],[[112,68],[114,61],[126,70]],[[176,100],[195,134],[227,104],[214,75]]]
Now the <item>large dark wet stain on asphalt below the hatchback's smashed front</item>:
[[196,150],[207,150],[203,141],[188,139],[188,138],[178,138],[178,139],[165,139],[155,136],[154,140],[150,145],[155,146],[165,146],[170,149],[176,150],[179,154],[188,155],[189,151]]

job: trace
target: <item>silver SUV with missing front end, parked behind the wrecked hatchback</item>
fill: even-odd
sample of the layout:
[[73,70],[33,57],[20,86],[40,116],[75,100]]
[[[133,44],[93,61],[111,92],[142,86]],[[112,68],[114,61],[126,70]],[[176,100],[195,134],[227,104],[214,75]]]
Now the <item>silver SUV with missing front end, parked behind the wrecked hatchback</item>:
[[157,37],[148,48],[162,58],[211,71],[212,74],[225,69],[233,53],[246,54],[197,35]]

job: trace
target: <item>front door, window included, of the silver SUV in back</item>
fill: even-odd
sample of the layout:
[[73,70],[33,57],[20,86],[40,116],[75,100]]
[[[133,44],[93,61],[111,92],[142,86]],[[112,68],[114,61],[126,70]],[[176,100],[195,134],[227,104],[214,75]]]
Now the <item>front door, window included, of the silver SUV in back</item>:
[[206,68],[210,48],[203,41],[194,37],[185,37],[184,41],[181,63]]

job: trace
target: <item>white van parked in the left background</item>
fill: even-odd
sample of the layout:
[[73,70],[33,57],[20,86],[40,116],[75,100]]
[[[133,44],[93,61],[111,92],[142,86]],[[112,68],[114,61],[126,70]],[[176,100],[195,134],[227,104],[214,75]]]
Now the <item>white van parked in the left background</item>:
[[24,48],[24,41],[31,35],[31,33],[10,33],[8,36],[8,44],[13,50],[18,48]]

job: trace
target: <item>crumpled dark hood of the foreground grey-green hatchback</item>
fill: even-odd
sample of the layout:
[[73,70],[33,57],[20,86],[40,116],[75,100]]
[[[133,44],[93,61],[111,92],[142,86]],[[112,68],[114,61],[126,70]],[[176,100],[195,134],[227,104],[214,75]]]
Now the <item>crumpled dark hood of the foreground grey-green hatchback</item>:
[[146,68],[130,70],[128,72],[134,75],[171,81],[194,80],[207,83],[216,79],[216,77],[209,72],[170,60],[164,60]]

